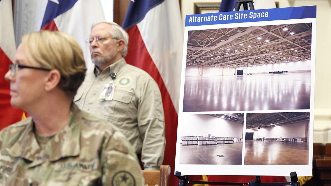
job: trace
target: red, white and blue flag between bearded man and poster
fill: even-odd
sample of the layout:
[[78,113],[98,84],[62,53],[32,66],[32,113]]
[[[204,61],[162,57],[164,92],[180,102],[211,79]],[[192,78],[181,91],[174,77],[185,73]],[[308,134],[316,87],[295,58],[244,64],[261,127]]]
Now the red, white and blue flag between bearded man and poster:
[[131,0],[122,27],[129,34],[125,60],[147,71],[159,84],[166,122],[166,151],[163,164],[174,177],[179,107],[183,25],[178,0]]

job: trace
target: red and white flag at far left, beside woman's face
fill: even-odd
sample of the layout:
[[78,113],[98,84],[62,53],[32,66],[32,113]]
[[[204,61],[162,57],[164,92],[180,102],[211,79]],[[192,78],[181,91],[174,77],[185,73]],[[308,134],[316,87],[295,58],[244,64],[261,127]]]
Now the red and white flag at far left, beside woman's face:
[[4,76],[16,53],[12,0],[0,0],[0,129],[21,120],[23,110],[10,105],[9,82]]

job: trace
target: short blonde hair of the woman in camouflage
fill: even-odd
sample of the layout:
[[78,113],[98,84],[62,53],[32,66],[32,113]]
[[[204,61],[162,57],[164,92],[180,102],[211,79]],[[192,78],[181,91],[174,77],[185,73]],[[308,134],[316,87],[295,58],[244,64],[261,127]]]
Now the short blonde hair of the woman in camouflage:
[[22,43],[24,53],[33,65],[60,71],[58,86],[73,99],[86,72],[83,52],[77,41],[64,32],[41,30],[25,34]]

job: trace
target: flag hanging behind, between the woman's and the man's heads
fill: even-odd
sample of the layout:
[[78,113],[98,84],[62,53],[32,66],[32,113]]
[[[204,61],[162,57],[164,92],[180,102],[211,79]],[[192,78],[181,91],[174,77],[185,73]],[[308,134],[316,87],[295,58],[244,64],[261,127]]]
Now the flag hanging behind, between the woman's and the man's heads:
[[49,0],[41,29],[72,35],[83,49],[86,67],[90,71],[94,65],[85,40],[90,35],[92,23],[101,21],[105,21],[105,15],[100,0]]

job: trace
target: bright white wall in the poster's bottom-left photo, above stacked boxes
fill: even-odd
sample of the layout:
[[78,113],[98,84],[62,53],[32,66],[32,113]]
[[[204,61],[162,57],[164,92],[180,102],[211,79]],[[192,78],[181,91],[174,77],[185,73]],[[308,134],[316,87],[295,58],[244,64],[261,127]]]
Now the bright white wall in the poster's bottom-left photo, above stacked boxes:
[[178,125],[181,136],[243,137],[243,124],[204,114],[183,114],[182,117]]

